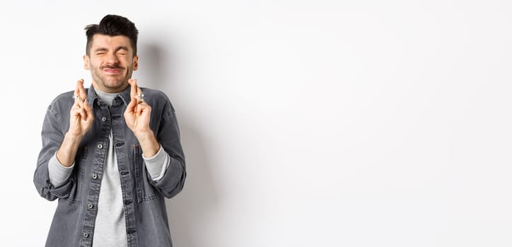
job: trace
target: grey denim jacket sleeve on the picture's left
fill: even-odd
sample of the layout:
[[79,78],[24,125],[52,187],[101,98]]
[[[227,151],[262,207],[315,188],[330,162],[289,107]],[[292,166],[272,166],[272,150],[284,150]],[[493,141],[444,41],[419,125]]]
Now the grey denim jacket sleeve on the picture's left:
[[42,124],[42,149],[37,158],[37,167],[34,173],[35,188],[42,198],[46,198],[47,200],[67,197],[73,186],[71,179],[67,179],[57,187],[54,187],[52,183],[50,183],[48,162],[62,144],[65,133],[63,128],[66,128],[66,120],[62,119],[62,117],[57,114],[58,111],[54,109],[55,107],[58,107],[57,104],[52,102],[47,109],[45,120]]

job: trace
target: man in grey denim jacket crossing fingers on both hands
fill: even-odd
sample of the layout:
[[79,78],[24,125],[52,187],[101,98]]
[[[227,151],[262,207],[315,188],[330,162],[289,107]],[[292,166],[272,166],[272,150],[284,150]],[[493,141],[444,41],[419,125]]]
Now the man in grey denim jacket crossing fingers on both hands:
[[165,198],[185,183],[185,157],[173,106],[163,92],[139,88],[138,30],[107,15],[86,27],[78,80],[50,104],[34,183],[59,199],[46,246],[172,246]]

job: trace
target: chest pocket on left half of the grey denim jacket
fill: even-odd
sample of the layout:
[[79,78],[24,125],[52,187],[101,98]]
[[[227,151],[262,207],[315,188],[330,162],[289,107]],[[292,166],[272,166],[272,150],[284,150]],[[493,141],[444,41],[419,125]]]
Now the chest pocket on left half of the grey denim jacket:
[[86,161],[87,161],[87,147],[78,147],[75,156],[75,167],[69,179],[71,179],[71,183],[73,186],[71,187],[71,191],[69,192],[69,200],[71,203],[80,203],[81,195],[82,195],[82,187],[83,187],[83,177],[85,176],[86,169]]

